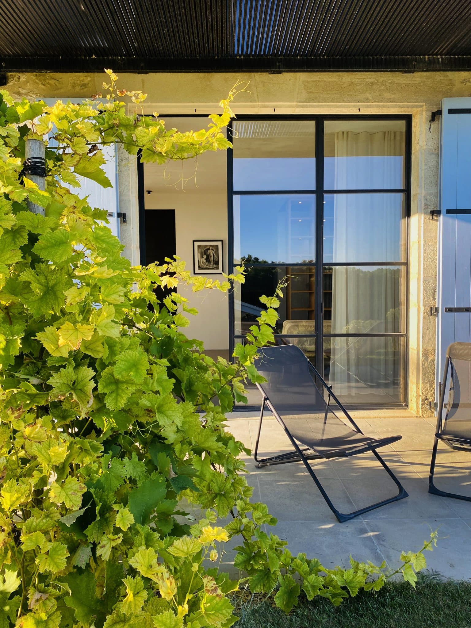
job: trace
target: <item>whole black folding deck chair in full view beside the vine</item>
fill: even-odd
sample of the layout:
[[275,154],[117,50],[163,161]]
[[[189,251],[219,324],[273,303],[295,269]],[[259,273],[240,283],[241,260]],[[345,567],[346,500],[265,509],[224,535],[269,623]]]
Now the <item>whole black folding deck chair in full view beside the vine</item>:
[[[254,451],[257,468],[303,462],[328,507],[340,522],[349,521],[359,514],[408,497],[399,480],[376,451],[379,447],[400,440],[402,436],[388,436],[387,438],[365,436],[333,394],[332,387],[328,386],[301,349],[295,345],[264,347],[259,349],[255,366],[259,374],[267,380],[264,384],[257,384],[263,397]],[[320,387],[317,386],[311,374],[319,382]],[[327,394],[327,401],[323,396],[323,391]],[[331,399],[337,404],[338,411],[337,408],[333,411],[330,406]],[[268,406],[290,439],[291,445],[295,448],[294,452],[282,453],[262,460],[257,458],[265,406]],[[346,421],[340,418],[342,414]],[[371,452],[379,460],[396,483],[399,492],[395,497],[377,502],[372,506],[349,513],[339,512],[330,501],[309,461],[318,458],[353,456],[366,452]]]

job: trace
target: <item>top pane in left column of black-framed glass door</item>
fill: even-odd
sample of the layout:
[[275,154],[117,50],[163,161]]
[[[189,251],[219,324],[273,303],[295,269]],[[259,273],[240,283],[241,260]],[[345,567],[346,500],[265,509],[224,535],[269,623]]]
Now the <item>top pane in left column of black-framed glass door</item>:
[[315,190],[314,121],[234,122],[234,190]]

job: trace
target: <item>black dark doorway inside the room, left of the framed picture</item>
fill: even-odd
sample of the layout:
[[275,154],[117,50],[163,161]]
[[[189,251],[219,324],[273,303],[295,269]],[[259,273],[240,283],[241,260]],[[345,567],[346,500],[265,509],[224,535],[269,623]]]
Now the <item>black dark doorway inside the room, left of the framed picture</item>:
[[176,255],[175,209],[146,209],[146,264]]

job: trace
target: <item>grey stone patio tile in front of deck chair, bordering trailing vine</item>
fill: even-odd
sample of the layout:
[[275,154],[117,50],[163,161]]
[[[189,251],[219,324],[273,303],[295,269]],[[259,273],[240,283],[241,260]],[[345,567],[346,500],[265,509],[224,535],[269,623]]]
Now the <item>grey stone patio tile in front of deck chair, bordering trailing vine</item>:
[[293,555],[304,552],[308,558],[318,558],[322,564],[333,567],[349,566],[350,555],[355,560],[382,563],[383,556],[365,523],[359,519],[339,524],[332,520],[317,522],[283,521],[270,528],[279,538],[288,541]]

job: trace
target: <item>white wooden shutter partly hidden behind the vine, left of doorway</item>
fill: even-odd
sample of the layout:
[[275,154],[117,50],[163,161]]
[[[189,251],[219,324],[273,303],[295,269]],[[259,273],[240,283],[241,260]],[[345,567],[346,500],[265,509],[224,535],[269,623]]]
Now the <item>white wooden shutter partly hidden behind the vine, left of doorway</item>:
[[[62,100],[63,102],[75,102],[80,104],[80,99],[73,98],[46,98],[46,104],[52,106]],[[117,216],[119,212],[119,197],[117,189],[117,160],[116,160],[116,145],[104,146],[103,153],[106,158],[106,164],[103,169],[106,176],[111,181],[111,188],[103,188],[99,183],[95,183],[91,179],[87,179],[84,176],[80,177],[80,188],[73,188],[72,192],[78,194],[80,198],[89,197],[89,204],[92,207],[99,207],[100,209],[106,209],[108,212],[109,228],[113,234],[120,237],[119,233],[119,218]]]

